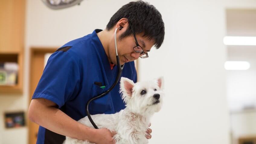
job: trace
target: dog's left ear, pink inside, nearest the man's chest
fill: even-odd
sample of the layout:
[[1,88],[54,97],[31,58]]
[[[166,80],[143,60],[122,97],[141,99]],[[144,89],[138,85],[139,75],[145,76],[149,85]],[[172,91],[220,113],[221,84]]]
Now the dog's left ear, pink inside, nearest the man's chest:
[[134,82],[129,78],[122,77],[120,80],[120,92],[127,96],[132,96],[132,90],[134,87]]

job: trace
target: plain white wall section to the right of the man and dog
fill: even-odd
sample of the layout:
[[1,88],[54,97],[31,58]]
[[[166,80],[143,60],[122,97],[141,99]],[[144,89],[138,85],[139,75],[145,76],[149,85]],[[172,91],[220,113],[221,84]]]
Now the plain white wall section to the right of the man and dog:
[[140,61],[140,73],[142,79],[164,75],[167,95],[162,111],[152,120],[151,142],[228,144],[223,4],[215,0],[155,4],[165,20],[165,42]]

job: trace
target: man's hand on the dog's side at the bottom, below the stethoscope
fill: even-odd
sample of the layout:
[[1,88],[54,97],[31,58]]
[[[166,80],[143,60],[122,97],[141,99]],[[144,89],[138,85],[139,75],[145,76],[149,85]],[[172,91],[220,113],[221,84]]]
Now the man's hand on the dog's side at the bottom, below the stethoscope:
[[106,128],[96,130],[96,137],[95,143],[96,144],[115,144],[113,136],[116,132],[111,133],[110,130]]

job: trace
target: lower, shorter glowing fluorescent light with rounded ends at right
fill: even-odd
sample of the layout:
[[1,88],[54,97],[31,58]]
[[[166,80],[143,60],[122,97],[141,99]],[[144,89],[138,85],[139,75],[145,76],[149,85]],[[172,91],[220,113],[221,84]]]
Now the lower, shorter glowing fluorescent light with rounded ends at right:
[[250,66],[246,61],[226,61],[224,64],[226,70],[247,70]]

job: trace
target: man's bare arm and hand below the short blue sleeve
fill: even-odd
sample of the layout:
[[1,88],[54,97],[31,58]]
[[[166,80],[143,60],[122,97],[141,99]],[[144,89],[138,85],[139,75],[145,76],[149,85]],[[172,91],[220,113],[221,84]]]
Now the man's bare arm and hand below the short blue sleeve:
[[93,143],[114,143],[109,130],[85,126],[59,110],[54,102],[44,98],[32,99],[28,117],[34,123],[64,136]]

